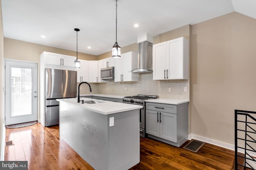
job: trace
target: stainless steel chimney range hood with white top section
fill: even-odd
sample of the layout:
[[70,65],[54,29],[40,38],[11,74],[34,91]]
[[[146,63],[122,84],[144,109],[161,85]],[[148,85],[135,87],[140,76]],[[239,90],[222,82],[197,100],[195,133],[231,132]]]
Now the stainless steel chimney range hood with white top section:
[[138,36],[138,66],[130,72],[152,72],[153,37],[148,33]]

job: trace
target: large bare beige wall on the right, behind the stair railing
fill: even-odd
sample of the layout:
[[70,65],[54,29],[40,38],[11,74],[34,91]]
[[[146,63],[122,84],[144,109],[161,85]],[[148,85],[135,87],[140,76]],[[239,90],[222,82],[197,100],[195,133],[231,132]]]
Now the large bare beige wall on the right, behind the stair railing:
[[192,134],[234,145],[234,109],[256,111],[255,30],[236,12],[192,25]]

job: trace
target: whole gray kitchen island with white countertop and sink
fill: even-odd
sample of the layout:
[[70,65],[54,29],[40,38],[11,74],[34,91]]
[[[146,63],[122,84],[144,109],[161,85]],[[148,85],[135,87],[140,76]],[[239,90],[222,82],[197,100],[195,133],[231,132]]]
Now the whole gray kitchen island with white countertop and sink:
[[[95,170],[127,170],[140,162],[142,106],[90,98],[60,102],[60,138]],[[93,103],[93,104],[88,104]]]

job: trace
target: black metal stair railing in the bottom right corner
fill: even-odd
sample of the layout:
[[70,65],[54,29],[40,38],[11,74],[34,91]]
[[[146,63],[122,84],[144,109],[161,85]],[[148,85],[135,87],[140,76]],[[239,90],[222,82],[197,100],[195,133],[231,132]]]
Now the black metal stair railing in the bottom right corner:
[[[256,158],[256,112],[235,110],[235,168],[255,170]],[[243,153],[238,154],[239,152]],[[238,159],[243,159],[241,164]],[[254,166],[253,166],[254,165]],[[242,168],[242,169],[240,169]]]

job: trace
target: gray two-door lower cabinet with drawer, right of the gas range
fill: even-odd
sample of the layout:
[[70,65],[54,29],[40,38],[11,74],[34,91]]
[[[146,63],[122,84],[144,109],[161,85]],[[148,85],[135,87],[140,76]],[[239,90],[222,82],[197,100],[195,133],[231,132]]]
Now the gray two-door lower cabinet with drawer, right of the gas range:
[[188,103],[146,102],[146,133],[148,137],[180,147],[188,140]]

